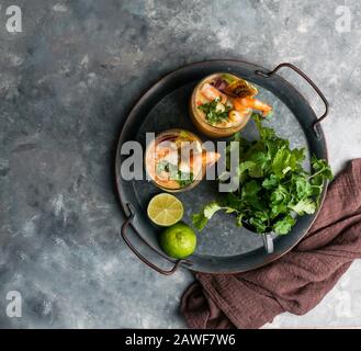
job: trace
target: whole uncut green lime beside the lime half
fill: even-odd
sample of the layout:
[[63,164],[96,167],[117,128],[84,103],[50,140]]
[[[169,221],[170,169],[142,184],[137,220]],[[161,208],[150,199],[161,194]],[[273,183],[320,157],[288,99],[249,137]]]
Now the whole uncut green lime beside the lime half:
[[174,259],[184,259],[196,247],[196,235],[187,224],[179,222],[160,234],[160,247]]

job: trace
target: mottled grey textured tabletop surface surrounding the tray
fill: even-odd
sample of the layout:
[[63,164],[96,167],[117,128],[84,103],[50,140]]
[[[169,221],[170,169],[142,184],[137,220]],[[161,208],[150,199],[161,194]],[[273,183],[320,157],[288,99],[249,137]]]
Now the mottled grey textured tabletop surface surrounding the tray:
[[[8,33],[5,8],[23,10]],[[348,5],[351,31],[335,27]],[[361,156],[358,0],[2,0],[0,5],[0,327],[185,327],[187,271],[161,276],[116,242],[112,177],[122,122],[139,94],[196,60],[291,61],[331,102],[330,163]],[[300,78],[316,111],[321,104]],[[361,326],[361,263],[306,316],[271,327]],[[23,296],[7,317],[7,292]]]

